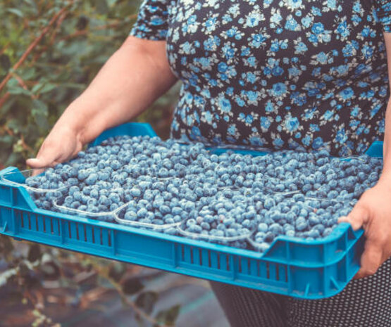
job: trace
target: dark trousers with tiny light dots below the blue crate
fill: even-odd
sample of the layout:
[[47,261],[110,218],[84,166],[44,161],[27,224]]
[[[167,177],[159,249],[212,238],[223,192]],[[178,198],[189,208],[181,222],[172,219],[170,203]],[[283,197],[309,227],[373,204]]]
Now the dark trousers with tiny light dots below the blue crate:
[[232,327],[391,327],[391,259],[324,300],[211,282]]

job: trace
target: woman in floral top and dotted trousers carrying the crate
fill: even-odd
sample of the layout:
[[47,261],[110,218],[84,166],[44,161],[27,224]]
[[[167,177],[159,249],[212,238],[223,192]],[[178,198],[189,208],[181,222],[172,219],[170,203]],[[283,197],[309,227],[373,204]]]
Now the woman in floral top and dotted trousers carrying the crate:
[[300,301],[212,286],[232,326],[391,326],[390,32],[389,0],[145,0],[130,37],[27,164],[72,158],[177,79],[175,138],[334,155],[384,139],[380,181],[340,219],[367,237],[342,293]]

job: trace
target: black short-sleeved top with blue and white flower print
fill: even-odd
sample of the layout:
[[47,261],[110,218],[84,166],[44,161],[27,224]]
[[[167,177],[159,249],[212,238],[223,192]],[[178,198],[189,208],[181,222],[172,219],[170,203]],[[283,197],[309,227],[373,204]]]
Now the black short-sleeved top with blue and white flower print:
[[390,0],[144,0],[130,34],[166,41],[174,138],[351,155],[383,139],[383,32]]

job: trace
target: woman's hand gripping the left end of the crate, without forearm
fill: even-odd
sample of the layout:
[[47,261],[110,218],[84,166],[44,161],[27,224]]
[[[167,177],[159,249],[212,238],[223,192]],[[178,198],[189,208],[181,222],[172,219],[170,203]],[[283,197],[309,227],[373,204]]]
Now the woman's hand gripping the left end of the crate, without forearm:
[[27,165],[34,169],[54,167],[79,153],[84,144],[79,133],[68,126],[55,126],[42,143],[36,158],[28,159]]

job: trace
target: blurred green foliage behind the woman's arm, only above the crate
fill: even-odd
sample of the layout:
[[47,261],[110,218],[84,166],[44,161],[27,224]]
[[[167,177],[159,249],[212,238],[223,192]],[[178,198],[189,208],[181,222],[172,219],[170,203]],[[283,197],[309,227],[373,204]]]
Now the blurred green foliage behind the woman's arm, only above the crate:
[[[35,155],[59,115],[128,36],[139,7],[138,0],[20,2],[0,2],[0,168],[23,167]],[[138,120],[167,136],[176,93]]]

